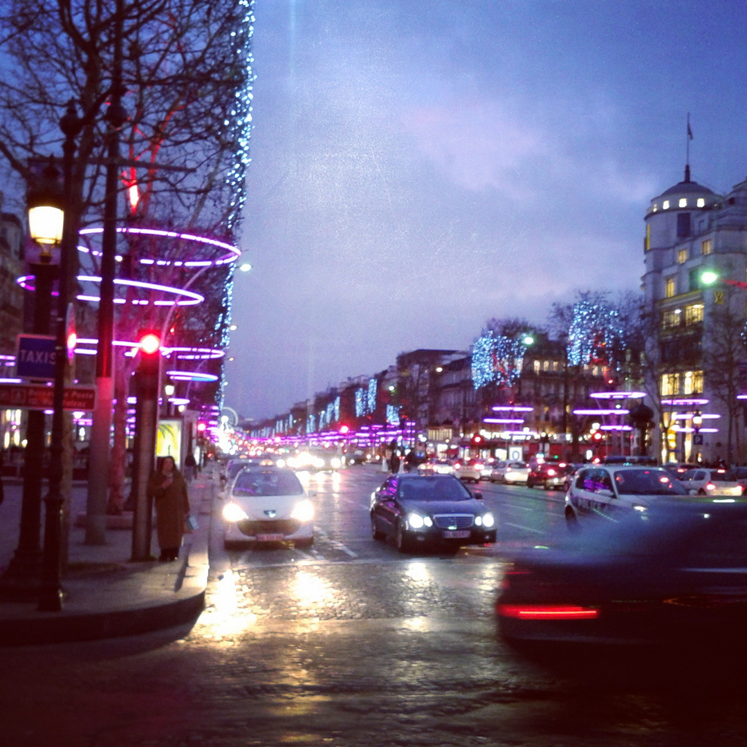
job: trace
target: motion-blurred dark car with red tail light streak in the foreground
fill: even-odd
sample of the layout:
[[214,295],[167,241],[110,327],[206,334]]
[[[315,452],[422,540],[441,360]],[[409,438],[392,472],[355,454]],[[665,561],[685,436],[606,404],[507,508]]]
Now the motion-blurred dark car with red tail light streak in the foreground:
[[661,499],[523,551],[496,611],[515,641],[737,642],[747,627],[747,501]]

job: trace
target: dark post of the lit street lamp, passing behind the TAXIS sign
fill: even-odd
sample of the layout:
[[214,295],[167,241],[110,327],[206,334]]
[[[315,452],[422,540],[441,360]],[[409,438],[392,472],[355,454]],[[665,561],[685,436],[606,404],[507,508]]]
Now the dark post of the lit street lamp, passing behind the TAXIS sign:
[[[35,335],[49,334],[52,311],[52,283],[58,267],[49,256],[31,264],[34,273]],[[26,424],[26,447],[23,453],[23,494],[18,547],[0,579],[0,593],[7,598],[34,599],[39,593],[42,548],[42,476],[46,416],[43,410],[29,410]]]

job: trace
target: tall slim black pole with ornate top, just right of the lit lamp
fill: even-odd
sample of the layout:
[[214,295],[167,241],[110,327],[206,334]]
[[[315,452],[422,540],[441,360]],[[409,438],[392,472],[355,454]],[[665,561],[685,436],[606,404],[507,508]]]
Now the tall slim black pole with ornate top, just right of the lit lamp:
[[44,557],[42,584],[39,593],[40,612],[59,612],[62,609],[63,589],[61,583],[61,539],[62,509],[64,497],[61,493],[62,452],[64,428],[65,375],[69,365],[67,353],[67,314],[70,288],[70,263],[76,249],[78,236],[77,220],[70,204],[72,190],[72,158],[75,154],[75,137],[81,122],[75,114],[75,105],[69,102],[65,116],[60,121],[65,135],[63,143],[63,186],[65,194],[65,220],[60,244],[60,282],[58,284],[57,342],[55,344],[55,391],[53,394],[52,444],[49,462],[49,493],[44,499]]

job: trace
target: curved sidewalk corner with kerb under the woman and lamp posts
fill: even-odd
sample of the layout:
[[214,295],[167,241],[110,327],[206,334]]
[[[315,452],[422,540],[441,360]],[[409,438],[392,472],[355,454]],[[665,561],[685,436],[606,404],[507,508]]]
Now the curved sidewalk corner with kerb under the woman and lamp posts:
[[[63,610],[38,612],[36,602],[0,599],[0,646],[130,636],[196,620],[205,603],[216,495],[208,469],[190,484],[199,528],[185,535],[179,560],[130,562],[131,530],[109,529],[105,545],[85,545],[85,530],[73,526]],[[158,554],[155,533],[152,551]]]

